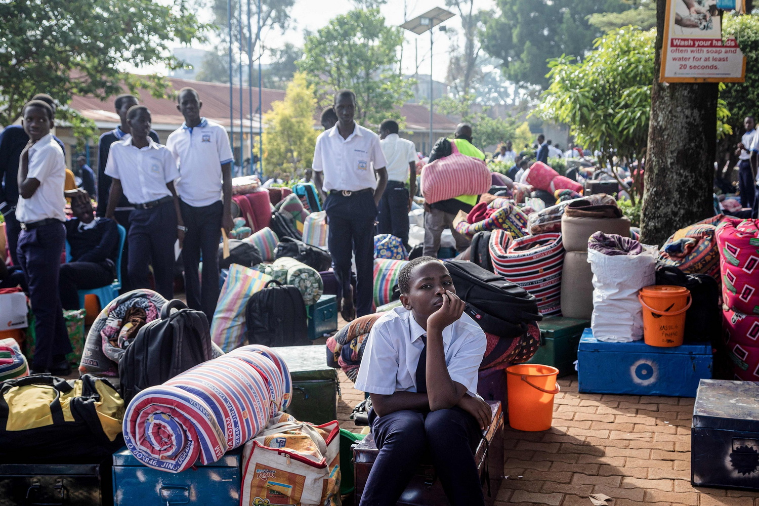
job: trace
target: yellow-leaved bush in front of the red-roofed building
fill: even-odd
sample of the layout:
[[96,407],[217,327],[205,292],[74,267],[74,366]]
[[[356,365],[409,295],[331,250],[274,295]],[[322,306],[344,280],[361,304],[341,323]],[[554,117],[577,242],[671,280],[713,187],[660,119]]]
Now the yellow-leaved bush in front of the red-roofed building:
[[273,170],[292,178],[311,166],[318,135],[313,129],[316,108],[313,87],[308,85],[304,74],[295,74],[288,84],[285,100],[273,102],[272,110],[263,117],[266,122],[263,157],[267,172]]

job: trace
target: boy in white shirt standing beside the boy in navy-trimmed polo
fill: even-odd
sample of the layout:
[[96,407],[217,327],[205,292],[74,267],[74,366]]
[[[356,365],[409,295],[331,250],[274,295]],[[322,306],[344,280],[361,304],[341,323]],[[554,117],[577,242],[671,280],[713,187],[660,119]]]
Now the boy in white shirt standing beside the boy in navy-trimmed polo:
[[132,135],[113,143],[106,163],[112,178],[106,218],[114,211],[123,192],[134,204],[129,221],[128,272],[134,288],[150,288],[148,265],[153,265],[156,291],[174,297],[174,243],[184,240],[184,222],[174,180],[179,177],[172,152],[150,139],[150,111],[134,105],[127,113]]

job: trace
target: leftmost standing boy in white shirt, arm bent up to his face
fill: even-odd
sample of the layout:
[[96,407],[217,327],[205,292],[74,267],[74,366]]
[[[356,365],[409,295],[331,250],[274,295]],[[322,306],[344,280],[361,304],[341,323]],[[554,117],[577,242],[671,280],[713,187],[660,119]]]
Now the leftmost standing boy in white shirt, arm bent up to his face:
[[21,152],[18,166],[19,200],[16,219],[20,222],[17,258],[29,287],[29,299],[36,318],[36,342],[31,363],[32,374],[52,372],[66,375],[71,353],[63,319],[58,278],[61,251],[65,244],[66,167],[63,150],[50,130],[53,109],[42,100],[32,100],[21,111],[21,124],[29,143]]

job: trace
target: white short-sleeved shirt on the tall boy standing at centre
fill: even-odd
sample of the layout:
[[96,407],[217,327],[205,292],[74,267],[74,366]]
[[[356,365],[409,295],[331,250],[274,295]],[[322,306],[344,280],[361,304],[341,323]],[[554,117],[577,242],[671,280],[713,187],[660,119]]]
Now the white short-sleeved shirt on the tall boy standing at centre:
[[[374,168],[387,166],[379,135],[356,124],[348,139],[343,139],[337,124],[317,137],[311,168],[323,172],[322,189],[358,191],[376,190]],[[408,171],[408,163],[406,164]]]

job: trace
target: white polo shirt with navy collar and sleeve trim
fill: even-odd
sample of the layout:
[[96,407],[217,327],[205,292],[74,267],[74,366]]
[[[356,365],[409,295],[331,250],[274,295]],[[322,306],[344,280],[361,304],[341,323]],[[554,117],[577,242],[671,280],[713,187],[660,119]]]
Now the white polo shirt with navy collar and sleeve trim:
[[200,119],[197,127],[183,123],[168,136],[166,147],[179,165],[179,198],[194,207],[210,206],[222,198],[222,165],[232,162],[227,131]]

